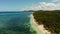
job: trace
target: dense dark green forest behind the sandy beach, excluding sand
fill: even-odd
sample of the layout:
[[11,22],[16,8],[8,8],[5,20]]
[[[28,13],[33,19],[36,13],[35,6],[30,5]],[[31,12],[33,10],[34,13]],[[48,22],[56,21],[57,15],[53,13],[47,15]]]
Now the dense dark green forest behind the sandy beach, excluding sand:
[[38,24],[44,24],[46,30],[51,34],[60,34],[60,10],[36,11],[33,13]]

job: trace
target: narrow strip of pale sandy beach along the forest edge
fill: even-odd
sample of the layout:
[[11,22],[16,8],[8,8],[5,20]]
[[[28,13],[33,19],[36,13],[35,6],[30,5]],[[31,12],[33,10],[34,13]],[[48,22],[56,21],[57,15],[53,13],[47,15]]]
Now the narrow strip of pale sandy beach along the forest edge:
[[38,25],[36,20],[34,19],[34,16],[33,15],[31,15],[31,16],[32,16],[32,19],[31,19],[32,23],[36,26],[36,28],[39,30],[39,32],[41,32],[41,34],[51,34],[51,32],[49,32],[48,30],[45,30],[43,24],[42,25]]

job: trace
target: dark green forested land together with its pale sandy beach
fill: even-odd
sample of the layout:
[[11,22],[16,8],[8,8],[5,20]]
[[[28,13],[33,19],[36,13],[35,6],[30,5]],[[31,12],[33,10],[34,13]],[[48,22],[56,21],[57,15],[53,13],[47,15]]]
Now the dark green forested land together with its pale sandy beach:
[[42,34],[60,34],[60,10],[36,11],[32,17]]

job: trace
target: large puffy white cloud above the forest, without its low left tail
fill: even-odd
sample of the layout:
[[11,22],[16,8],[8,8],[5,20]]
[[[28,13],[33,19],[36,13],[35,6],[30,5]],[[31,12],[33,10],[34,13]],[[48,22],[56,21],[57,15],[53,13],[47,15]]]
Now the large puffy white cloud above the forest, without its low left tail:
[[40,3],[40,9],[41,10],[55,10],[56,6],[54,3],[46,3],[46,2],[41,2]]

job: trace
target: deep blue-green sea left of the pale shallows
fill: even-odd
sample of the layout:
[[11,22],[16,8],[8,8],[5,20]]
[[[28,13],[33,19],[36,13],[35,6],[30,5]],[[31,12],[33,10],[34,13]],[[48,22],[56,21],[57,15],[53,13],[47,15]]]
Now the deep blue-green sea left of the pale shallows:
[[32,34],[33,32],[30,31],[32,13],[0,12],[0,34]]

